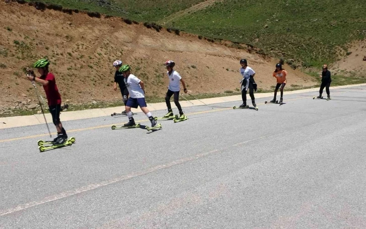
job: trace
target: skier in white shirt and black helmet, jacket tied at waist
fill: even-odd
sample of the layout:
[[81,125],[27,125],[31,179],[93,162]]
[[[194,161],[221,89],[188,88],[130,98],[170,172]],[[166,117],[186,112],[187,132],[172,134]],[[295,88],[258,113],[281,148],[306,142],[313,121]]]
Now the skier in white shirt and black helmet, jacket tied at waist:
[[255,97],[254,97],[254,90],[257,91],[257,84],[254,81],[254,76],[256,73],[251,67],[248,67],[248,62],[246,59],[240,60],[240,74],[242,76],[242,79],[240,81],[241,83],[241,98],[242,98],[242,104],[240,107],[248,107],[247,106],[247,91],[249,89],[249,95],[252,98],[252,104],[254,107],[257,107]]

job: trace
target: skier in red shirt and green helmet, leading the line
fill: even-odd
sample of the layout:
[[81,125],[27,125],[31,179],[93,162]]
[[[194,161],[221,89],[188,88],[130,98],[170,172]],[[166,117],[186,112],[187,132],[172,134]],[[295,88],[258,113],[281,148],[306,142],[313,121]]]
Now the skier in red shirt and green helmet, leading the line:
[[30,81],[35,81],[43,85],[44,92],[47,96],[48,109],[52,115],[53,124],[56,126],[57,137],[53,141],[57,144],[63,144],[68,135],[59,120],[59,112],[61,110],[61,96],[58,92],[56,80],[54,75],[48,70],[49,61],[41,59],[34,64],[34,68],[37,68],[40,77],[36,77],[33,71],[29,71],[27,76]]

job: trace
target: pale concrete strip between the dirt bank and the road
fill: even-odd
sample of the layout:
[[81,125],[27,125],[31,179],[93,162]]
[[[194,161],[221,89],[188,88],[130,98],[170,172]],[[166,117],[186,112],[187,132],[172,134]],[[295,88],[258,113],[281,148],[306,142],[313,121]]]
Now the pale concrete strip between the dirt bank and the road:
[[[366,84],[352,84],[352,85],[345,85],[345,86],[336,86],[332,87],[331,89],[340,89],[340,88],[347,88],[347,87],[357,87],[357,86],[366,86]],[[305,93],[305,92],[313,92],[318,91],[319,88],[310,88],[310,89],[302,89],[296,91],[286,91],[286,95],[290,94],[298,94],[298,93]],[[270,93],[257,93],[256,98],[265,98],[273,96],[273,92]],[[216,98],[206,98],[200,99],[206,104],[215,104],[215,103],[222,103],[222,102],[233,102],[233,101],[240,101],[241,95],[232,95],[232,96],[225,96],[225,97],[216,97]],[[190,100],[188,102],[186,100],[180,100],[179,103],[182,107],[189,107],[189,106],[199,106],[203,105],[202,102],[198,100]],[[165,102],[160,103],[149,103],[147,104],[150,111],[154,110],[164,110],[166,109]],[[174,103],[172,103],[174,106]],[[125,109],[124,106],[117,106],[117,107],[108,107],[108,108],[95,108],[95,109],[88,109],[88,110],[78,110],[78,111],[67,111],[61,112],[60,119],[62,121],[72,121],[72,120],[81,120],[81,119],[90,119],[90,118],[98,118],[103,116],[110,116],[111,113],[116,111],[123,111]],[[139,113],[142,112],[141,109],[132,109],[133,112]],[[52,123],[52,117],[50,113],[45,114],[47,123]],[[4,124],[6,123],[6,124]],[[24,126],[32,126],[32,125],[39,125],[44,124],[43,115],[31,115],[31,116],[15,116],[15,117],[5,117],[0,118],[0,129],[7,129],[7,128],[14,128],[14,127],[24,127]]]

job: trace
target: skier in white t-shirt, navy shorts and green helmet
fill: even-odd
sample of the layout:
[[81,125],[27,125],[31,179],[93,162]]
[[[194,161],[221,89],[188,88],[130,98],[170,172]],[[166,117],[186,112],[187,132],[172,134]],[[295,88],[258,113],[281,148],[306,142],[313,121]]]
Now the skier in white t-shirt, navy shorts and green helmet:
[[130,94],[130,98],[127,100],[126,103],[126,113],[127,117],[129,117],[129,122],[124,126],[131,127],[136,125],[135,120],[132,117],[131,107],[137,108],[138,106],[140,106],[141,110],[149,118],[151,122],[151,127],[154,127],[156,125],[156,121],[154,120],[154,117],[152,116],[146,105],[144,82],[142,82],[136,76],[132,75],[130,70],[131,67],[129,65],[123,65],[119,68],[119,72],[121,72],[125,77],[124,82]]

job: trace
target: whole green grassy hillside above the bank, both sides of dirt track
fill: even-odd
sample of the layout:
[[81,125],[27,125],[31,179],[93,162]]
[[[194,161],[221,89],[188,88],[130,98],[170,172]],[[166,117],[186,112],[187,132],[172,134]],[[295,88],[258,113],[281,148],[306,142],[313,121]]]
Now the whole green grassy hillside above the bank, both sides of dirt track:
[[[163,24],[202,0],[43,0],[66,8]],[[215,1],[211,1],[215,2]],[[167,21],[191,33],[251,43],[267,53],[319,67],[346,55],[346,44],[366,35],[366,4],[359,0],[226,0]]]

